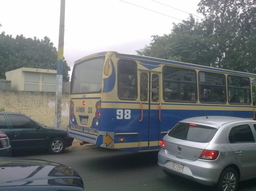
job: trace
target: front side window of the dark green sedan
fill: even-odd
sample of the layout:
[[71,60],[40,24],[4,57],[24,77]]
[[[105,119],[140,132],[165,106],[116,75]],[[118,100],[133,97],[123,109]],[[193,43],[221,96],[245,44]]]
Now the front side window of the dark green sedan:
[[14,129],[35,129],[35,122],[22,115],[8,115],[11,125]]

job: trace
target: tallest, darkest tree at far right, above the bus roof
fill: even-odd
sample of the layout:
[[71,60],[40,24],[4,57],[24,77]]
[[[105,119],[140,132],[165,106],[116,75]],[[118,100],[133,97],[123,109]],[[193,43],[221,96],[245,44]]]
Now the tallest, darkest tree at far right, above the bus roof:
[[[201,0],[198,4],[205,17],[202,25],[219,50],[215,67],[255,72],[255,4],[255,0]],[[207,27],[209,23],[212,27]]]

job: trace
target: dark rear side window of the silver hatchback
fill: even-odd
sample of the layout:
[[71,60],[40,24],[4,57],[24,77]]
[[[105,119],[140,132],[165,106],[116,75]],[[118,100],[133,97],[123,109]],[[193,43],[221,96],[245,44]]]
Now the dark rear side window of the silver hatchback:
[[249,125],[233,127],[229,133],[228,139],[230,143],[255,142],[252,129]]

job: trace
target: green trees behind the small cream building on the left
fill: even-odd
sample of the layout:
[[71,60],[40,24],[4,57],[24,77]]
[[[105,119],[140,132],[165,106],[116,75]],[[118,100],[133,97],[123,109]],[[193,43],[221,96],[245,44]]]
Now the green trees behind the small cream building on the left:
[[[53,42],[45,36],[44,39],[37,37],[25,38],[23,35],[0,34],[0,79],[5,79],[5,72],[22,67],[57,69],[57,49]],[[65,58],[63,58],[64,60]],[[63,61],[63,82],[69,81],[69,71],[66,60]]]

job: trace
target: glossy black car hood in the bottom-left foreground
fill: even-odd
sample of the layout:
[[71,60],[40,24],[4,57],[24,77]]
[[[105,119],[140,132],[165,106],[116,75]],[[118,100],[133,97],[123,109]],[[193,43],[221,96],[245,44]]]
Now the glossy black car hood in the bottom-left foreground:
[[0,187],[62,185],[84,188],[75,170],[46,160],[0,157],[0,177]]

